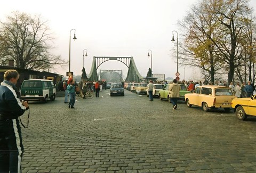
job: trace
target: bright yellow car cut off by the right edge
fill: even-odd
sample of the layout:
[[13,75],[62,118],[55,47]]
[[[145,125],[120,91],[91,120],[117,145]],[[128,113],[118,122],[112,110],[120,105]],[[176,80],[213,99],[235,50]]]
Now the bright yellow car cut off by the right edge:
[[235,98],[231,105],[239,120],[246,120],[248,116],[256,116],[256,95],[251,98]]

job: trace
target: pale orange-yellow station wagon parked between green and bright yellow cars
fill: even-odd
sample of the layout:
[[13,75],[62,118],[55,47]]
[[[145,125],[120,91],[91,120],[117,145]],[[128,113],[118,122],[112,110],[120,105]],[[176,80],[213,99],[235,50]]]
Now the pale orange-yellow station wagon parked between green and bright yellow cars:
[[185,94],[187,106],[202,106],[204,111],[223,108],[229,111],[231,101],[235,98],[231,88],[225,86],[204,85],[195,88],[194,93]]

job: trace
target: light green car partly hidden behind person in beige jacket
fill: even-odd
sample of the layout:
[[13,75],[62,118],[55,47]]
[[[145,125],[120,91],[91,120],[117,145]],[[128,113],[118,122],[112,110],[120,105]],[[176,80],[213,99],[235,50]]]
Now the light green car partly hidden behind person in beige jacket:
[[[162,90],[159,90],[159,93],[158,93],[158,97],[160,98],[160,100],[163,100],[163,99],[167,99],[169,102],[170,99],[169,99],[169,87],[170,87],[171,84],[166,84],[164,86],[164,88]],[[187,90],[187,87],[185,85],[182,85],[180,84],[180,98],[179,100],[182,100],[182,101],[185,101],[185,94],[187,93],[191,93]]]

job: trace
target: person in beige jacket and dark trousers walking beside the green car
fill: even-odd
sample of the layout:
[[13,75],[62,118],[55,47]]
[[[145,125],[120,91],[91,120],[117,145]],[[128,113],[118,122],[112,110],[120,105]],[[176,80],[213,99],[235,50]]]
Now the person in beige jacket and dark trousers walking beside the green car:
[[170,101],[172,102],[172,105],[173,105],[173,109],[177,109],[177,104],[178,104],[178,98],[180,97],[180,85],[177,84],[177,80],[176,79],[173,79],[173,84],[171,84],[169,86],[169,98],[170,98]]

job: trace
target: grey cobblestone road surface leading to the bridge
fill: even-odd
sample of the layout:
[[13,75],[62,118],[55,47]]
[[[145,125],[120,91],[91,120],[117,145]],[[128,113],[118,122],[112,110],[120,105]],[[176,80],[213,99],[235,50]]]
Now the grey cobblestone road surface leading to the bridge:
[[256,118],[148,100],[103,90],[76,109],[30,102],[23,172],[256,172]]

